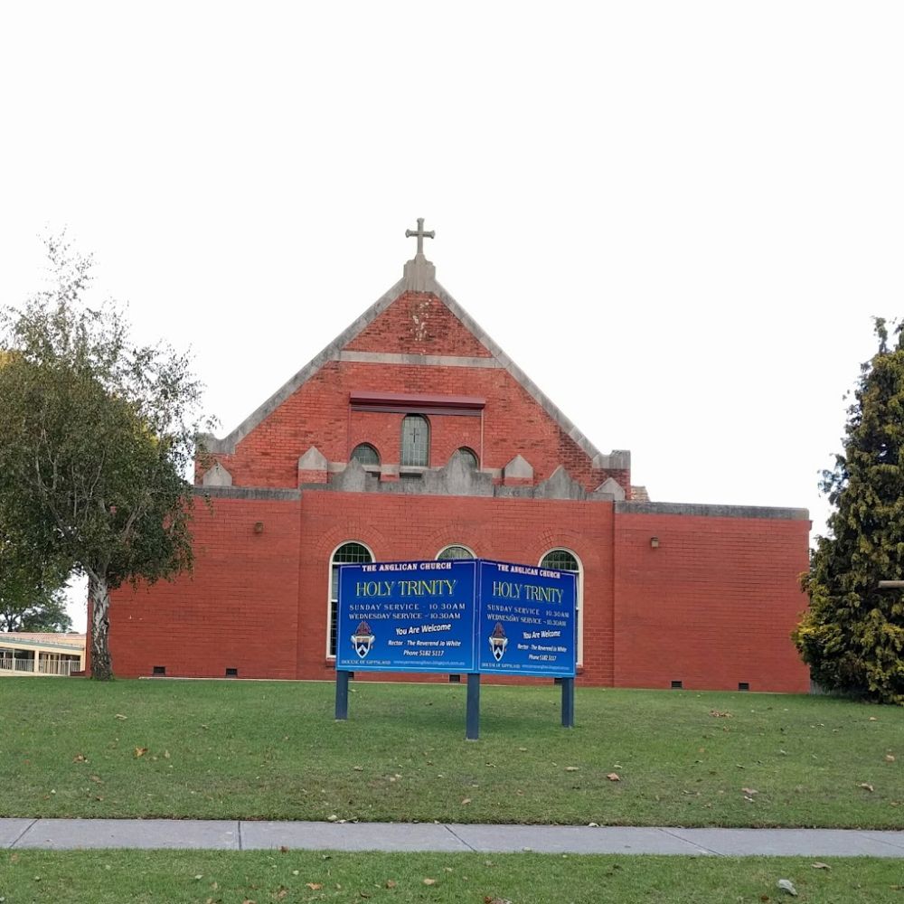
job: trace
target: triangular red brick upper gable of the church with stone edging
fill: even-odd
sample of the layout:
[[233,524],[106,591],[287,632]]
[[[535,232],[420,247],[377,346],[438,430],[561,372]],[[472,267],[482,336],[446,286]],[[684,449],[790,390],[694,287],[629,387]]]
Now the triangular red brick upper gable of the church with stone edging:
[[[464,448],[497,484],[508,484],[503,469],[521,455],[534,482],[565,466],[588,492],[607,477],[630,492],[629,455],[599,453],[438,284],[422,253],[239,428],[209,438],[208,450],[233,485],[330,482],[359,447],[374,479],[399,480],[419,476],[405,473],[412,462],[402,422],[410,415],[425,419],[429,435],[421,470],[447,466]],[[311,447],[326,466],[299,469]]]

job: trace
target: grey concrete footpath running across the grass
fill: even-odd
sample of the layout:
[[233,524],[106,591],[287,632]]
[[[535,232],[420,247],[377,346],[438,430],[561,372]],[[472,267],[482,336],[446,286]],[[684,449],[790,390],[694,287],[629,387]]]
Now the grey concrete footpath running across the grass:
[[585,825],[291,823],[198,819],[0,819],[0,848],[226,851],[661,853],[899,857],[904,831],[682,829]]

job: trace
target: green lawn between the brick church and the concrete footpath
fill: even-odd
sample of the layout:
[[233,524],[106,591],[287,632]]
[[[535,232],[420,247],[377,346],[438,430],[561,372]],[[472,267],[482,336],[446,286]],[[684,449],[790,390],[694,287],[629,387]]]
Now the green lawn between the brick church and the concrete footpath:
[[[904,824],[904,709],[464,685],[0,680],[0,815]],[[617,774],[618,781],[607,778]],[[904,900],[904,899],[902,899]]]

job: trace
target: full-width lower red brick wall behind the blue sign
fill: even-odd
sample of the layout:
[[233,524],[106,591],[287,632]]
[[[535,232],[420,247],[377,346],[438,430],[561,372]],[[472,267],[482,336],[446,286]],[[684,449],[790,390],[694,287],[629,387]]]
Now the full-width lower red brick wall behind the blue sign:
[[342,543],[359,541],[377,560],[432,559],[462,543],[488,559],[535,564],[551,549],[570,549],[583,566],[579,683],[808,687],[788,637],[805,606],[796,584],[806,567],[805,521],[328,490],[307,490],[300,502],[214,499],[212,506],[198,503],[193,575],[114,595],[118,674],[165,665],[167,674],[198,677],[238,668],[241,677],[332,678],[330,558]]

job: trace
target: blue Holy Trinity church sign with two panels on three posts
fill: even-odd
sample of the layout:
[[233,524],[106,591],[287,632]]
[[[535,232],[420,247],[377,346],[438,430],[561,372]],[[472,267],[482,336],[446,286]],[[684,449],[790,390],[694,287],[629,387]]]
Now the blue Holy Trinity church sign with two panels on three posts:
[[480,733],[480,675],[562,683],[574,726],[577,576],[480,559],[373,562],[339,570],[336,719],[350,672],[467,674],[468,739]]

